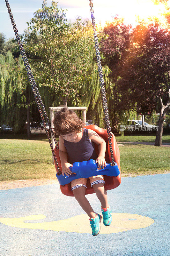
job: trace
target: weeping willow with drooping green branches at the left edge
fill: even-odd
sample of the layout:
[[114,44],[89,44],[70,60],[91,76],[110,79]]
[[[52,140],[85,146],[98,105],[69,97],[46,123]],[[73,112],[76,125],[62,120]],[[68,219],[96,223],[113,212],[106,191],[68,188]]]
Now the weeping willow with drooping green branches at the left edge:
[[11,51],[0,55],[0,123],[12,127],[13,133],[23,133],[28,99],[33,98],[21,57],[14,59]]

